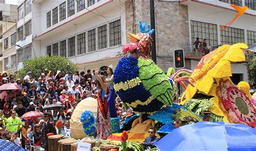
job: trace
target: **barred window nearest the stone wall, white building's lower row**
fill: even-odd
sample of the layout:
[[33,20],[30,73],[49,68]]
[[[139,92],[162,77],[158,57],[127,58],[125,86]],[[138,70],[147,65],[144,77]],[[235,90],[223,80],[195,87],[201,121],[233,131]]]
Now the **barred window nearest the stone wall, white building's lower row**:
[[120,45],[122,43],[121,39],[121,20],[118,19],[109,24],[110,32],[110,46]]

